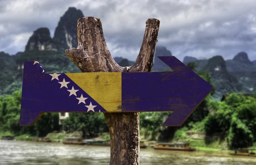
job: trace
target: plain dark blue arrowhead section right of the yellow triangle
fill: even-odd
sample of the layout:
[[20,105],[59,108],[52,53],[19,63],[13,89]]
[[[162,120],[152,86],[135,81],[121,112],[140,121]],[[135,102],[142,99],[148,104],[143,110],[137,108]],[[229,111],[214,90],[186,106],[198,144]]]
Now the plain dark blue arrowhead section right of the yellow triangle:
[[175,56],[161,56],[173,72],[122,73],[122,112],[174,111],[163,126],[181,126],[212,86]]

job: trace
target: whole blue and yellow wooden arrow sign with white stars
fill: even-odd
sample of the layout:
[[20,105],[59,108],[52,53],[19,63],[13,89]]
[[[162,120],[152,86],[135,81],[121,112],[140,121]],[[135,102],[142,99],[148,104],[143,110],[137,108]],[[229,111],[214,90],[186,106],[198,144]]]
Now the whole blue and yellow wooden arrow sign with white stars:
[[173,111],[163,126],[180,126],[212,86],[175,56],[158,57],[172,72],[45,73],[24,62],[20,126],[44,112]]

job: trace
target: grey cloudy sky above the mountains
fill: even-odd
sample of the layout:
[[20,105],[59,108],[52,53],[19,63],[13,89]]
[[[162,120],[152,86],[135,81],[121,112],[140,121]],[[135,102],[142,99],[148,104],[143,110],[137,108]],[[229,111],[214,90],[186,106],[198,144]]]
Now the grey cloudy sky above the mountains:
[[256,0],[0,0],[0,51],[23,51],[40,27],[53,35],[70,6],[101,19],[112,56],[136,59],[145,21],[157,18],[157,45],[180,60],[232,59],[240,51],[256,60]]

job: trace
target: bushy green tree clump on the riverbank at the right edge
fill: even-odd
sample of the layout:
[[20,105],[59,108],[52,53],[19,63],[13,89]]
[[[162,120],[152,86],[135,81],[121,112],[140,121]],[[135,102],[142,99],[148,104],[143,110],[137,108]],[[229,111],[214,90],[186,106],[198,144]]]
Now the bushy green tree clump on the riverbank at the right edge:
[[223,132],[231,148],[256,142],[256,98],[232,93],[218,103],[218,110],[205,121],[207,134]]

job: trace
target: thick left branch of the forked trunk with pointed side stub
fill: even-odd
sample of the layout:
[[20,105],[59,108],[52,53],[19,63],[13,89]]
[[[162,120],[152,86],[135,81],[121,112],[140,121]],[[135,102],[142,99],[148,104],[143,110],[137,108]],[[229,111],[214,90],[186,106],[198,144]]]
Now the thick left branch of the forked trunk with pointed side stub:
[[100,19],[82,17],[77,24],[78,47],[65,50],[67,57],[82,72],[122,72],[108,50]]

